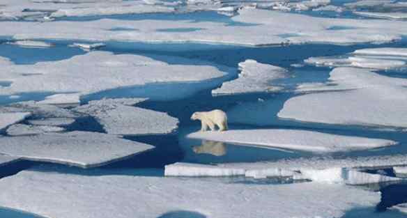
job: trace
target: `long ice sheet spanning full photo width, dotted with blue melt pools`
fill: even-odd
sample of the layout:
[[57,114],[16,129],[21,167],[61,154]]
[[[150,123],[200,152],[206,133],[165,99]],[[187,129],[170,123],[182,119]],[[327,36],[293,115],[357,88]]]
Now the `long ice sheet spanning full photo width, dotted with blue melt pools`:
[[[204,42],[237,45],[280,45],[290,42],[321,42],[350,44],[362,42],[390,42],[401,39],[407,32],[402,21],[351,20],[310,17],[271,10],[243,9],[231,18],[234,22],[258,25],[228,25],[219,22],[191,22],[189,20],[94,20],[89,22],[1,22],[1,36],[15,39],[92,40],[129,42]],[[139,31],[110,31],[118,26]],[[330,31],[332,26],[350,29]],[[193,32],[162,32],[159,29],[198,28]],[[46,31],[45,31],[46,30]],[[301,33],[282,38],[283,34]],[[57,33],[57,34],[56,34]],[[239,34],[236,34],[239,33]]]

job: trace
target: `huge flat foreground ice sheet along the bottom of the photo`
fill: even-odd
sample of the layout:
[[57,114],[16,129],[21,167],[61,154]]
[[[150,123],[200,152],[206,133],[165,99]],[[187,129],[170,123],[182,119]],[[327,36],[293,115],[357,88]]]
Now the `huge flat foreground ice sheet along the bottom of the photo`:
[[330,218],[341,217],[355,207],[373,207],[380,201],[379,193],[314,182],[243,185],[33,170],[1,179],[0,189],[2,206],[58,218],[160,217],[178,210],[198,212],[208,218]]

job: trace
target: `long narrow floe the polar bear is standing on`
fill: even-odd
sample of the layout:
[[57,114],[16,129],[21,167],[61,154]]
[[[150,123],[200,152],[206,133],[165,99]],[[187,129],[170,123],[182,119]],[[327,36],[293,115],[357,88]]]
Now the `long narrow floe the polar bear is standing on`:
[[396,143],[385,139],[346,137],[305,130],[273,129],[195,132],[188,134],[187,137],[192,139],[238,143],[248,146],[308,150],[316,153],[364,150],[392,146]]

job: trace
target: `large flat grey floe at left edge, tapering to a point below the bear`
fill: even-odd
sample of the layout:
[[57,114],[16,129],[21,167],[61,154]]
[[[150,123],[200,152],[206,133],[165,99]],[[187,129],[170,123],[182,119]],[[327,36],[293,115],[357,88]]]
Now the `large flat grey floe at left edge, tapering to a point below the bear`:
[[97,132],[45,133],[0,137],[0,153],[42,162],[81,167],[108,164],[154,147]]

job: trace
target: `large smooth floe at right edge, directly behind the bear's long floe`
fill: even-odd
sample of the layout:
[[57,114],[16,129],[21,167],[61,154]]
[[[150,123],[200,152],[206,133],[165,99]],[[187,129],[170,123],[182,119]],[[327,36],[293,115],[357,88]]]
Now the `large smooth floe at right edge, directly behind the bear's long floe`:
[[326,92],[290,98],[277,114],[279,118],[341,125],[407,127],[407,79],[386,77],[366,69],[335,68],[330,72],[326,86],[318,84],[299,91]]

